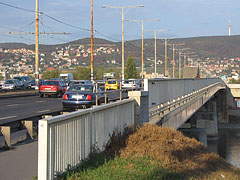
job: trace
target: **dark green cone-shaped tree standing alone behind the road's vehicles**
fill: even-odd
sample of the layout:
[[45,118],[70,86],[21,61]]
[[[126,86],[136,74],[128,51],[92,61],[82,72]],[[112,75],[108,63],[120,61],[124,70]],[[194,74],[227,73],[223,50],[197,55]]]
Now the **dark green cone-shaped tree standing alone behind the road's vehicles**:
[[125,69],[125,79],[130,79],[130,78],[134,78],[134,79],[139,78],[139,73],[136,68],[136,63],[133,60],[132,56],[128,56],[126,69]]

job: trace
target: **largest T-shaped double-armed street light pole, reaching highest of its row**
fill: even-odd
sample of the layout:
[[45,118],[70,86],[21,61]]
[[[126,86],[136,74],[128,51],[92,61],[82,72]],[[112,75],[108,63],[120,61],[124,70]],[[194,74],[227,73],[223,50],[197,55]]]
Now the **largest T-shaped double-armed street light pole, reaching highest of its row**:
[[122,15],[122,80],[124,80],[124,9],[129,8],[136,8],[136,7],[144,7],[143,5],[137,5],[137,6],[102,6],[102,8],[115,8],[115,9],[121,9],[121,15]]

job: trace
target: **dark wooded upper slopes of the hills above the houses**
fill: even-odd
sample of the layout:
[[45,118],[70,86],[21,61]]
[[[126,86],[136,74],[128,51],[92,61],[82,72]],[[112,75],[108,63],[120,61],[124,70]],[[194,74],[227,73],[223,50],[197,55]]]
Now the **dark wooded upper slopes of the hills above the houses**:
[[[79,39],[65,44],[56,45],[40,45],[40,52],[51,52],[56,47],[86,45],[90,46],[90,38]],[[145,58],[154,57],[154,39],[145,39]],[[209,37],[191,37],[191,38],[177,38],[168,41],[169,44],[184,43],[185,45],[177,48],[190,48],[189,51],[194,52],[199,57],[240,57],[240,36],[209,36]],[[141,39],[127,41],[125,43],[126,57],[132,55],[133,57],[141,59]],[[114,46],[121,49],[121,42],[112,42],[105,39],[94,38],[94,46]],[[34,50],[34,45],[27,45],[24,43],[0,43],[0,48],[26,48]],[[158,56],[164,54],[164,39],[157,40]],[[172,56],[172,47],[168,46],[169,56]]]

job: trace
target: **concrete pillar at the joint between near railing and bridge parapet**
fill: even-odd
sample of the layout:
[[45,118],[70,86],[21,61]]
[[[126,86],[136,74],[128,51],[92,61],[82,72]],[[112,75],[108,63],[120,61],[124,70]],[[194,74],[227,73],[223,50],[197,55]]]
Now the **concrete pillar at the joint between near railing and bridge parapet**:
[[134,123],[141,125],[149,122],[149,106],[148,106],[148,92],[146,91],[129,91],[129,98],[134,98]]

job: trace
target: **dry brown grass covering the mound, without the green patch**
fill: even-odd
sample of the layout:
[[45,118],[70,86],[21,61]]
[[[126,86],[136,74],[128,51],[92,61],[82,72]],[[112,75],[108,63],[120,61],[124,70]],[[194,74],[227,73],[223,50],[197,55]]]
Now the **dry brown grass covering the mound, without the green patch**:
[[120,157],[150,157],[164,169],[176,169],[196,179],[240,179],[240,170],[195,139],[156,125],[144,125],[130,135]]

